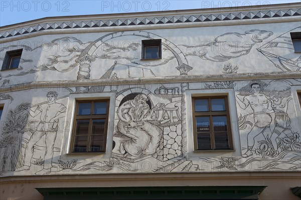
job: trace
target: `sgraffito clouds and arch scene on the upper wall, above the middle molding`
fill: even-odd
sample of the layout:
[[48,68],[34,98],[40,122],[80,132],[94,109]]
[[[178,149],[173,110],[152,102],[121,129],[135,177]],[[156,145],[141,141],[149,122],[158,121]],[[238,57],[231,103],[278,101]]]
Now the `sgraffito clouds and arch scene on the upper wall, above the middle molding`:
[[[293,45],[289,32],[300,31],[300,27],[291,29],[281,35],[273,34],[273,31],[263,29],[250,29],[245,32],[225,32],[211,39],[194,41],[194,44],[183,44],[171,41],[167,37],[149,31],[120,31],[105,34],[94,41],[82,41],[74,36],[64,36],[45,41],[41,45],[31,46],[30,42],[23,42],[19,45],[2,45],[0,48],[0,64],[2,65],[7,50],[23,48],[20,66],[16,70],[0,73],[2,86],[12,81],[14,77],[26,77],[26,75],[39,72],[52,71],[51,74],[58,78],[64,73],[72,74],[70,79],[97,79],[106,78],[98,69],[99,64],[113,65],[117,60],[119,64],[132,66],[135,70],[129,77],[152,77],[164,74],[162,67],[169,67],[170,75],[178,75],[177,68],[181,74],[188,74],[196,68],[192,60],[198,57],[208,63],[224,62],[229,60],[240,60],[240,57],[259,52],[262,59],[268,59],[276,68],[289,71],[300,70],[300,56],[293,53]],[[142,39],[162,39],[161,59],[143,60],[140,59]],[[36,42],[37,43],[37,42]],[[41,43],[41,42],[39,42]],[[37,43],[37,44],[39,44]],[[257,51],[256,51],[257,49]],[[283,55],[282,55],[282,54]],[[43,59],[41,59],[43,57]],[[112,61],[110,61],[112,60]],[[190,63],[188,63],[188,61]],[[239,61],[241,62],[241,61]],[[171,66],[174,66],[171,68]],[[220,66],[220,65],[219,65]],[[138,69],[139,68],[139,69]],[[122,71],[121,66],[116,66],[117,71]],[[219,68],[221,69],[221,68]],[[106,71],[108,70],[105,67]],[[44,71],[44,72],[43,72]],[[202,74],[202,71],[198,72]],[[28,77],[33,77],[28,76]],[[35,76],[37,79],[43,77]],[[62,76],[63,77],[63,76]],[[119,77],[123,77],[120,76]],[[13,79],[12,79],[13,78]],[[49,77],[45,77],[51,80]],[[43,78],[43,80],[45,80]],[[25,78],[26,80],[26,78]],[[79,88],[78,88],[79,89]]]

